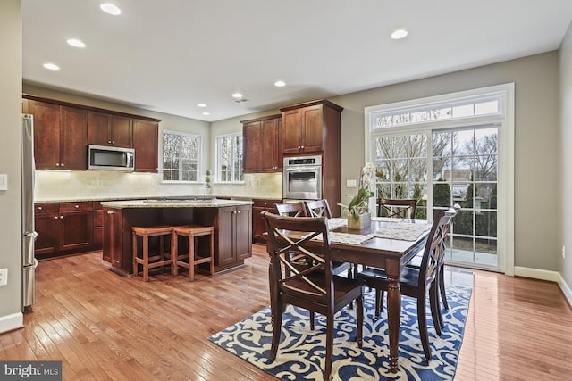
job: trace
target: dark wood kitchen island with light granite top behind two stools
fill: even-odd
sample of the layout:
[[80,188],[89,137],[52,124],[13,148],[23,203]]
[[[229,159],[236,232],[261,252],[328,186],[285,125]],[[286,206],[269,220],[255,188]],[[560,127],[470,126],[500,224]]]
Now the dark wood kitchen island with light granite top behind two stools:
[[[101,205],[104,211],[103,259],[122,275],[132,273],[131,228],[134,226],[213,226],[215,271],[240,266],[252,255],[250,201],[158,198],[110,201]],[[150,250],[156,248],[156,242],[150,245]]]

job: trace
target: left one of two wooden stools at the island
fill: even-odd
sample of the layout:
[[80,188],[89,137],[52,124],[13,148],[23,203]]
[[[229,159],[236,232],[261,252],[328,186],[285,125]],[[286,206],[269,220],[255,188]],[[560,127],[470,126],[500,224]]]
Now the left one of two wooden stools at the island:
[[[139,264],[143,265],[143,281],[149,280],[149,269],[171,265],[172,273],[172,254],[165,253],[164,237],[172,236],[172,227],[133,227],[131,228],[131,236],[133,236],[133,275],[139,274]],[[139,258],[137,248],[137,236],[140,236],[143,242],[143,255]],[[149,256],[149,237],[159,237],[159,253]]]

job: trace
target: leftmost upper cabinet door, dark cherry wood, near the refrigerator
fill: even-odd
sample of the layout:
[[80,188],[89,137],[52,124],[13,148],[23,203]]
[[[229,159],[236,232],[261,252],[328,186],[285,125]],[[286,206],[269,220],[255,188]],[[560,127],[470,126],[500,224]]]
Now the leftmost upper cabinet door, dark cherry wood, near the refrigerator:
[[60,106],[29,101],[34,115],[34,159],[38,170],[60,168]]

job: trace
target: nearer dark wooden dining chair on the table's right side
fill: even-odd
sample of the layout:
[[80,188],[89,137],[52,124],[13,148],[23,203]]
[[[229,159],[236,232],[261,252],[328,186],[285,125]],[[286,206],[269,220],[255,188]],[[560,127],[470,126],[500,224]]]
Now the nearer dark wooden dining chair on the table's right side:
[[[431,318],[437,335],[441,335],[442,327],[439,321],[438,309],[438,286],[437,277],[439,275],[439,261],[442,256],[444,241],[449,233],[450,220],[452,216],[440,211],[433,221],[433,225],[427,236],[427,242],[421,261],[421,266],[417,268],[405,267],[401,273],[400,288],[401,294],[416,298],[417,300],[417,320],[421,344],[425,352],[427,361],[431,360],[431,348],[429,347],[429,336],[427,334],[427,318],[425,314],[426,296],[429,294],[429,304],[431,307]],[[379,316],[383,308],[383,294],[388,290],[389,280],[383,269],[367,268],[357,274],[357,279],[364,280],[366,286],[375,289],[376,299],[380,298],[380,306],[375,311],[375,316]]]

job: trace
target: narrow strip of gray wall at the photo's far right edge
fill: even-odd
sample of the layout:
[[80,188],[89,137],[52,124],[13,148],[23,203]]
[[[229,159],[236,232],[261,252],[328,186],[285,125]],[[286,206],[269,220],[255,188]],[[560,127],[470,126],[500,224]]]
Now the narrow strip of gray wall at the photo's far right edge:
[[[572,197],[567,190],[572,189],[572,24],[560,47],[560,149],[562,153],[561,171],[561,209],[562,217],[562,244],[567,248],[566,259],[561,255],[559,259],[559,272],[568,286],[572,286]],[[555,208],[556,209],[556,208]]]

